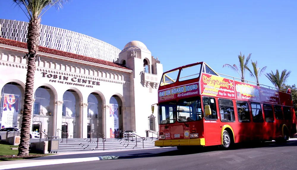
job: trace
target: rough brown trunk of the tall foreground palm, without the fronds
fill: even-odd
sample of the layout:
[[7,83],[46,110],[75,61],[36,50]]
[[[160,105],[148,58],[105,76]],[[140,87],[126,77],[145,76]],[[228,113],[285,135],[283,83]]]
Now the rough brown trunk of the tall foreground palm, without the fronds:
[[33,105],[33,88],[34,88],[34,74],[36,70],[36,56],[39,45],[40,36],[40,20],[31,20],[28,27],[28,68],[26,76],[25,100],[22,128],[20,133],[20,144],[18,148],[18,155],[29,155],[29,141],[30,141],[30,125],[31,112]]

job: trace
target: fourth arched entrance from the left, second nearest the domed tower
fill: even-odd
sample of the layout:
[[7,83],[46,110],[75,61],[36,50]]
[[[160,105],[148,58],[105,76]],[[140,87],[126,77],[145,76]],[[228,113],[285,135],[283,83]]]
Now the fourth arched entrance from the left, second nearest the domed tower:
[[[97,93],[91,93],[88,96],[88,138],[89,132],[95,130],[99,135],[103,134],[103,121],[102,121],[102,98]],[[102,137],[102,136],[101,136]]]

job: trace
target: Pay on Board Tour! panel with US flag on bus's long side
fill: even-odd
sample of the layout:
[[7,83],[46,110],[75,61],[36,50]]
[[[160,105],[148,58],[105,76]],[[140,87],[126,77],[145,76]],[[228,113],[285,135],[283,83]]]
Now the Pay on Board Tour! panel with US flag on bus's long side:
[[244,82],[234,81],[236,98],[245,101],[260,102],[260,88]]

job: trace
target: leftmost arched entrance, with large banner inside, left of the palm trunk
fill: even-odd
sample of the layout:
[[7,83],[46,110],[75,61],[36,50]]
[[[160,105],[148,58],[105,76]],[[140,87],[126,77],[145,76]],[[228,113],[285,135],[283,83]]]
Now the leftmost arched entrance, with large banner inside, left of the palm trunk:
[[1,90],[0,128],[21,127],[25,90],[15,82],[9,82]]

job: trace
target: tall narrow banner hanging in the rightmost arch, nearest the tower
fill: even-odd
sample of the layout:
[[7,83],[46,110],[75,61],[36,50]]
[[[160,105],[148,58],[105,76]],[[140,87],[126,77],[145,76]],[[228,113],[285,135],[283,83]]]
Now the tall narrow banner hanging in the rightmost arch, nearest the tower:
[[111,104],[109,108],[110,138],[119,137],[119,106]]

